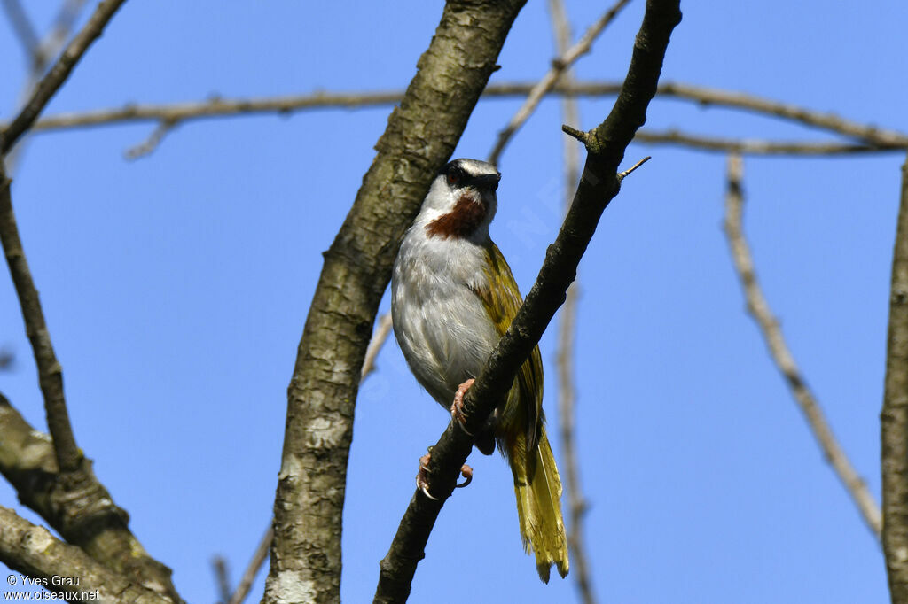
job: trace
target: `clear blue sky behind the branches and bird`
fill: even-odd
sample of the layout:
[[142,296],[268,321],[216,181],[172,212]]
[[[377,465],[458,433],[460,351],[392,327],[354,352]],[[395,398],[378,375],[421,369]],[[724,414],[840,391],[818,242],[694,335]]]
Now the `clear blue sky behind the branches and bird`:
[[[55,3],[24,3],[42,31]],[[607,5],[568,2],[578,34]],[[683,2],[663,81],[739,90],[908,131],[908,5]],[[222,96],[400,89],[441,3],[131,0],[47,114]],[[577,64],[620,79],[643,13],[632,2]],[[25,63],[0,23],[0,119]],[[529,3],[493,82],[538,79],[553,43]],[[580,103],[581,126],[611,99]],[[455,153],[484,158],[518,100],[480,102]],[[331,243],[390,107],[185,124],[154,153],[150,124],[30,139],[15,173],[25,251],[64,366],[80,446],[146,549],[191,602],[216,597],[221,554],[239,578],[271,514],[285,391]],[[543,102],[502,157],[492,237],[523,291],[554,239],[560,106]],[[751,138],[822,132],[656,100],[647,125]],[[577,439],[587,543],[603,601],[876,602],[882,552],[823,459],[751,319],[720,229],[725,158],[632,145],[629,178],[580,267]],[[899,153],[748,158],[745,229],[765,295],[844,449],[878,496],[889,263]],[[389,306],[386,299],[382,310]],[[0,391],[44,412],[15,294],[0,279]],[[554,330],[541,343],[558,447]],[[363,385],[350,452],[344,601],[368,601],[448,416],[391,341]],[[506,464],[441,513],[411,601],[571,601],[520,549]],[[0,502],[15,506],[0,485]],[[26,517],[34,514],[22,510]],[[262,593],[262,580],[252,597]]]

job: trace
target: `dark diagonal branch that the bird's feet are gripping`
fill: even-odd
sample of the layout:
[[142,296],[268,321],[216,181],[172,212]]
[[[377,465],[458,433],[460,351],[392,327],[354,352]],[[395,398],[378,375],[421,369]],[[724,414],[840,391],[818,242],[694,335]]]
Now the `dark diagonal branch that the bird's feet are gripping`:
[[429,532],[457,481],[460,466],[472,448],[472,437],[507,394],[518,367],[538,343],[548,322],[565,299],[577,264],[599,218],[618,192],[617,166],[637,128],[646,121],[646,107],[656,93],[668,37],[680,22],[677,0],[647,0],[625,85],[606,121],[597,128],[597,144],[587,145],[587,163],[568,217],[549,246],[536,284],[530,289],[508,332],[465,396],[466,431],[449,424],[432,449],[429,481],[437,501],[413,493],[390,550],[381,560],[376,602],[400,602],[410,593],[416,565],[424,557]]

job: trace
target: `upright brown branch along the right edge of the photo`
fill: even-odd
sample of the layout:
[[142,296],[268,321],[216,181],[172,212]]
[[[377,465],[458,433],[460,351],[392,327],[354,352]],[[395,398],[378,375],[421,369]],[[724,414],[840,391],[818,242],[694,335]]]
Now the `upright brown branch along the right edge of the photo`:
[[893,604],[908,602],[908,159],[895,229],[883,413],[883,552]]

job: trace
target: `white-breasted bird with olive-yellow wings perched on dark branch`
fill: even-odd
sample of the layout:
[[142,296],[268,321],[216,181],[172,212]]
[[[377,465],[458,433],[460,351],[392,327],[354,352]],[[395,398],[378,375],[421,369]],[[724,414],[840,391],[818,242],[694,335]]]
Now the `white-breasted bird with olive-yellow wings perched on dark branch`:
[[[508,262],[489,237],[500,179],[485,161],[450,161],[404,235],[391,275],[391,320],[403,356],[419,384],[461,427],[463,396],[523,302]],[[476,434],[481,453],[494,453],[496,444],[514,476],[520,535],[524,550],[536,555],[539,579],[548,583],[553,564],[565,577],[561,479],[542,413],[538,346],[505,402]],[[417,484],[432,497],[427,463],[428,456],[420,459]],[[467,471],[464,466],[469,482]]]

